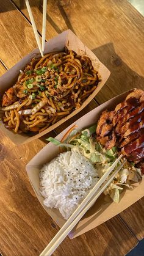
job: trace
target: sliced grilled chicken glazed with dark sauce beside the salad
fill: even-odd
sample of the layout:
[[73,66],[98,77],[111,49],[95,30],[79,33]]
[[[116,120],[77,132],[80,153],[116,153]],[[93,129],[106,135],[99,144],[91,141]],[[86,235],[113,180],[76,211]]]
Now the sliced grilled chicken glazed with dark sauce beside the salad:
[[99,118],[96,135],[106,149],[117,145],[129,161],[143,163],[144,91],[135,89],[114,111],[104,111]]

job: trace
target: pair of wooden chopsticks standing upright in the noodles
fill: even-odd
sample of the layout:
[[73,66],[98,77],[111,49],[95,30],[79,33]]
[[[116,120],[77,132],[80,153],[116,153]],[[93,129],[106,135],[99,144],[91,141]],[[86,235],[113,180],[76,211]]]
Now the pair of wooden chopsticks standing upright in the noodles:
[[46,5],[47,5],[47,0],[43,0],[42,48],[41,48],[41,43],[40,43],[40,37],[39,37],[38,32],[37,32],[37,27],[35,25],[34,16],[32,15],[31,6],[29,5],[29,0],[25,0],[25,2],[26,2],[27,11],[29,13],[29,18],[30,18],[31,23],[32,23],[32,28],[34,30],[35,39],[37,41],[37,45],[38,45],[38,48],[40,50],[41,57],[43,57],[43,52],[44,52],[44,49],[45,49],[45,38],[46,38]]

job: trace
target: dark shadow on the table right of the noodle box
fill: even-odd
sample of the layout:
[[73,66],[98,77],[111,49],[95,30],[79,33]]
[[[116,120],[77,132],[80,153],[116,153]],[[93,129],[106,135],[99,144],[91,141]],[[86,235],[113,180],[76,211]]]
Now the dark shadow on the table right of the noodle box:
[[[92,49],[92,51],[111,72],[105,86],[98,93],[98,97],[96,96],[99,104],[126,90],[135,87],[144,88],[144,78],[123,62],[115,52],[113,43],[107,43],[106,45]],[[108,87],[107,90],[106,87]]]

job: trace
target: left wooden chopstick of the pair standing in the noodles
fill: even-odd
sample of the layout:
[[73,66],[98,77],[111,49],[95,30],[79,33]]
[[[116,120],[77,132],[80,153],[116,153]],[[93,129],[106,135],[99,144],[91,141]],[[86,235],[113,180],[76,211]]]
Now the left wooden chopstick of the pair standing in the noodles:
[[41,57],[43,57],[43,51],[42,51],[42,48],[41,48],[40,37],[39,37],[38,32],[37,32],[37,27],[35,25],[34,16],[32,15],[31,7],[29,5],[29,0],[25,0],[25,2],[26,2],[27,11],[29,13],[29,18],[30,18],[31,23],[32,23],[32,28],[33,28],[33,31],[34,31],[35,39],[37,41],[37,45],[38,45],[38,48],[40,50]]

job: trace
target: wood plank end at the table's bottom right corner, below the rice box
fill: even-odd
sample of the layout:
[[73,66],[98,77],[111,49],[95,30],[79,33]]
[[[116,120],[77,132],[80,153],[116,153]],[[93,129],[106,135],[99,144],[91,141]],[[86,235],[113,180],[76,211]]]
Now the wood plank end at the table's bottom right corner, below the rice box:
[[129,225],[137,239],[144,238],[144,197],[120,213],[121,218]]

